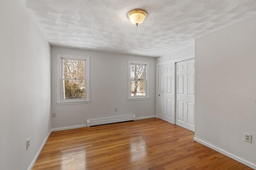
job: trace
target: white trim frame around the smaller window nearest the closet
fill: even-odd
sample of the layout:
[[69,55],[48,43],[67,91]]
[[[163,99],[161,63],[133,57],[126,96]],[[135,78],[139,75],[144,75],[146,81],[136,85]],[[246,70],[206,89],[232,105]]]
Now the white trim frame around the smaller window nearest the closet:
[[[146,96],[131,96],[131,64],[144,64],[146,65]],[[143,62],[143,61],[128,61],[128,101],[133,101],[133,100],[148,100],[149,99],[149,81],[148,81],[148,68],[149,68],[149,63],[148,62]]]

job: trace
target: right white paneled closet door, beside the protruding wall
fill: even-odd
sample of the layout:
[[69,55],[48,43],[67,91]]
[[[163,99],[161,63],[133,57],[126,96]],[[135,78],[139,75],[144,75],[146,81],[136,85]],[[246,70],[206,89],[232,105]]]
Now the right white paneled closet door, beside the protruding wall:
[[195,131],[195,62],[176,63],[176,124]]

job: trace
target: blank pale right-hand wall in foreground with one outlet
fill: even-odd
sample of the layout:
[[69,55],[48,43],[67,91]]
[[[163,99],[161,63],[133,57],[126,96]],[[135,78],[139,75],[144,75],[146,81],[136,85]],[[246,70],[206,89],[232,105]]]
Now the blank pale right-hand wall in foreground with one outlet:
[[195,137],[255,165],[256,17],[196,39],[195,55]]

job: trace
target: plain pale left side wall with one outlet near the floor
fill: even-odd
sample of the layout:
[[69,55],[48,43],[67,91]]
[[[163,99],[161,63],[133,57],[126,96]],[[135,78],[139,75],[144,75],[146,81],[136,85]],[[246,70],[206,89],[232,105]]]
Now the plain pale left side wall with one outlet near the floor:
[[50,45],[20,1],[0,0],[1,170],[29,168],[51,129],[50,100]]

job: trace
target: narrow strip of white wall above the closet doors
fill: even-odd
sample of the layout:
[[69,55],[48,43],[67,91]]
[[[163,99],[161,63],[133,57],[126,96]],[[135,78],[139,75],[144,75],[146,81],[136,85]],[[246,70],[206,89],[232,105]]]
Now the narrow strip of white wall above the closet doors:
[[165,62],[165,61],[170,61],[170,60],[173,60],[173,59],[177,59],[177,58],[188,56],[188,55],[194,55],[194,54],[195,54],[195,46],[192,45],[192,46],[180,49],[178,51],[174,51],[172,53],[163,55],[161,57],[157,57],[156,58],[156,63],[162,63],[162,62]]

